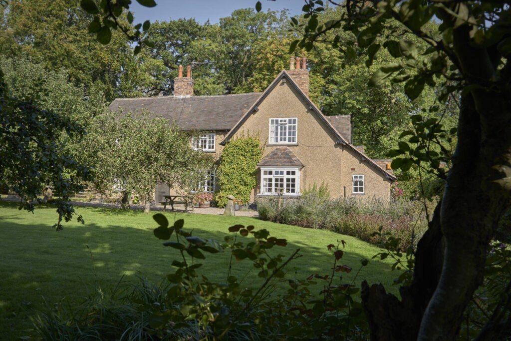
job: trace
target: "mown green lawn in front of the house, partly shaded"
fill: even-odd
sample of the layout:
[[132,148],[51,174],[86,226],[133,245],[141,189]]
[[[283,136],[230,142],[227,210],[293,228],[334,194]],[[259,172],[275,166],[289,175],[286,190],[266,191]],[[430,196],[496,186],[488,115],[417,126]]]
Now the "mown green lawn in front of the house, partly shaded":
[[[18,211],[13,203],[0,203],[0,339],[17,339],[31,335],[29,316],[65,298],[77,304],[94,292],[97,284],[109,287],[124,275],[126,281],[137,276],[160,281],[172,271],[175,249],[161,245],[152,230],[156,227],[152,215],[140,211],[80,208],[85,224],[65,223],[56,232],[55,208],[37,208],[35,214]],[[288,266],[288,276],[306,278],[311,274],[331,271],[332,251],[328,244],[345,240],[342,264],[357,270],[360,259],[370,259],[378,248],[356,238],[329,231],[311,230],[276,224],[248,217],[223,217],[187,213],[166,213],[170,221],[184,218],[184,228],[194,229],[194,235],[223,240],[227,228],[235,223],[253,224],[265,228],[272,236],[286,238],[287,247],[277,247],[284,255],[300,248],[304,256]],[[210,279],[225,281],[229,253],[206,255],[203,272]],[[390,287],[397,273],[390,271],[390,262],[370,260],[358,275],[357,285],[383,283]],[[250,261],[235,262],[233,275],[242,278],[252,268]],[[351,281],[356,271],[344,275]],[[245,285],[255,285],[257,272],[251,271]],[[394,287],[395,290],[395,287]]]

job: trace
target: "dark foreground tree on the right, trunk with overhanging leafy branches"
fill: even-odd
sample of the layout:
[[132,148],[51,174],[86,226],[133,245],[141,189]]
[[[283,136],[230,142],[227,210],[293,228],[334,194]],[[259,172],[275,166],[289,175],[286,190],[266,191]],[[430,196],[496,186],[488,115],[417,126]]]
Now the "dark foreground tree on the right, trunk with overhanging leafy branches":
[[[304,6],[307,24],[299,26],[293,20],[304,36],[292,47],[311,50],[325,33],[343,28],[354,34],[353,39],[334,37],[330,43],[344,58],[356,46],[363,49],[369,63],[382,47],[397,59],[380,67],[371,85],[378,86],[385,79],[405,82],[405,94],[413,101],[425,87],[439,83],[440,102],[449,97],[459,100],[458,144],[447,174],[439,161],[449,153],[437,137],[455,131],[445,131],[441,116],[412,116],[413,129],[401,134],[401,138],[411,138],[402,140],[392,152],[399,156],[393,168],[407,171],[416,165],[445,179],[443,198],[417,246],[411,285],[400,288],[402,300],[381,285],[365,283],[362,290],[374,339],[453,339],[482,283],[489,243],[510,203],[511,39],[505,29],[511,19],[509,7],[500,2],[418,0],[374,4],[348,0],[338,6],[344,9],[342,15],[319,25],[322,2],[308,2]],[[440,21],[438,34],[425,25],[433,16]],[[385,39],[383,46],[378,37]],[[416,44],[409,37],[429,45],[425,62],[418,62]],[[432,105],[430,110],[438,108]],[[443,155],[428,149],[432,144]],[[502,335],[508,324],[500,311],[509,310],[508,304],[505,299],[498,302],[478,339]]]

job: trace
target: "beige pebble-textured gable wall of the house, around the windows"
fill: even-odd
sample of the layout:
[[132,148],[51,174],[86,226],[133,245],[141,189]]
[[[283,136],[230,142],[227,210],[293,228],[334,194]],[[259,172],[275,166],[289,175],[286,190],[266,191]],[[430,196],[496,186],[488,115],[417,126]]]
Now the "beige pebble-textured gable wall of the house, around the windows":
[[[308,109],[308,104],[298,96],[289,82],[277,84],[259,110],[252,113],[237,133],[258,132],[261,143],[265,144],[264,156],[282,144],[271,145],[269,141],[269,120],[272,118],[297,118],[297,144],[286,145],[304,164],[300,171],[300,192],[323,181],[329,185],[333,198],[352,195],[352,175],[363,174],[365,194],[358,197],[377,196],[390,198],[390,181],[383,172],[376,171],[367,161],[361,162],[360,156],[349,147],[337,145],[337,138],[317,115]],[[355,168],[355,171],[351,169]],[[258,183],[260,183],[258,175]],[[259,193],[259,187],[254,194]]]

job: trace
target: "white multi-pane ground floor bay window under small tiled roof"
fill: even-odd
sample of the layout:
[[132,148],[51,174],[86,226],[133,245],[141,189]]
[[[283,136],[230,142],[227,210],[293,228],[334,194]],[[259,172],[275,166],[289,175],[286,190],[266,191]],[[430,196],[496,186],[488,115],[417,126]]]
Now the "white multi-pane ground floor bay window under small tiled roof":
[[261,194],[297,195],[299,175],[298,169],[261,168]]

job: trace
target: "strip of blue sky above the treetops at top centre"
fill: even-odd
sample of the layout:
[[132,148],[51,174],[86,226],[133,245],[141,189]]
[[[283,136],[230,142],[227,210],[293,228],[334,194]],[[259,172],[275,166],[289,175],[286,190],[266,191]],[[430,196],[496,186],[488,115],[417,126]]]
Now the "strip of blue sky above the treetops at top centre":
[[[239,8],[255,8],[257,0],[155,0],[157,6],[146,8],[133,0],[130,10],[135,22],[145,20],[169,20],[179,18],[195,18],[203,23],[209,19],[218,22],[221,17],[229,16]],[[289,9],[291,16],[299,14],[305,5],[304,0],[261,0],[263,11]]]

